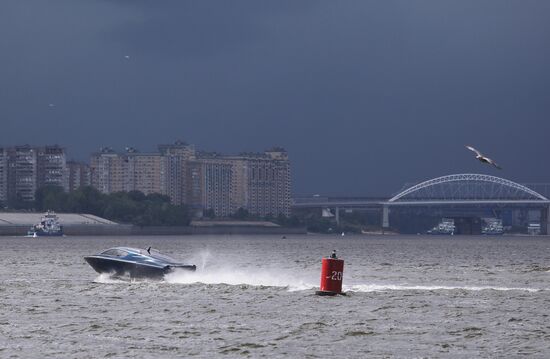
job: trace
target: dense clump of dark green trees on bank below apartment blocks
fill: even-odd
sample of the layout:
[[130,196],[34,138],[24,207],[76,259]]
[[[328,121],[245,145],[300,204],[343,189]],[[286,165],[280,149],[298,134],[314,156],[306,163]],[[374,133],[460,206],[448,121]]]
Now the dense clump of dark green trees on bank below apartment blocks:
[[187,207],[171,204],[168,196],[140,191],[103,194],[90,186],[69,193],[57,186],[41,187],[36,191],[34,208],[90,213],[138,226],[187,226],[191,222]]

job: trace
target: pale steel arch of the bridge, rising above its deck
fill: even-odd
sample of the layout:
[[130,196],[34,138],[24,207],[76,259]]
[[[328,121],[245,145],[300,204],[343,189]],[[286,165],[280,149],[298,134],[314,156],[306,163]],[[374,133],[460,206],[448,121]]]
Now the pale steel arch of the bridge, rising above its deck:
[[396,194],[395,196],[390,198],[388,202],[389,203],[397,202],[410,194],[422,191],[423,189],[430,188],[432,186],[437,186],[442,184],[452,184],[455,182],[477,182],[477,183],[483,182],[483,183],[489,183],[493,185],[500,185],[508,189],[515,190],[517,193],[522,193],[524,195],[531,196],[532,197],[531,199],[548,201],[548,199],[543,195],[541,195],[540,193],[535,192],[532,189],[527,188],[519,183],[512,182],[510,180],[500,178],[500,177],[495,177],[495,176],[465,173],[465,174],[454,174],[454,175],[437,177],[428,181],[418,183]]

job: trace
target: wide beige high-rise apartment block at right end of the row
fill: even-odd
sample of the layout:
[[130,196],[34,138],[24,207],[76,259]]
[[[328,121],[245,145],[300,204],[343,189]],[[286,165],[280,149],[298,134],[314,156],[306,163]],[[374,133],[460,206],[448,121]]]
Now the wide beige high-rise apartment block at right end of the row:
[[228,216],[290,215],[290,164],[283,149],[240,156],[199,153],[188,173],[189,204]]

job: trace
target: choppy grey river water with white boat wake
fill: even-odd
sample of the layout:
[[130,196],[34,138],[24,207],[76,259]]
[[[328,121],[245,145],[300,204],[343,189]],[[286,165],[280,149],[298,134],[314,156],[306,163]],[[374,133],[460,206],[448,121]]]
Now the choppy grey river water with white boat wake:
[[[0,357],[550,357],[550,238],[0,237]],[[83,260],[153,245],[162,282]],[[320,258],[348,296],[318,297]]]

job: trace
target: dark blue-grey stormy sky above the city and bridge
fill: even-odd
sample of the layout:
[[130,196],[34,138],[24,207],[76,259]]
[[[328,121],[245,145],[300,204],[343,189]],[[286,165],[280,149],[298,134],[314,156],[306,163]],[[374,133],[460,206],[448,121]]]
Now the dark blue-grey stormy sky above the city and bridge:
[[550,1],[2,0],[0,123],[83,160],[280,145],[295,193],[550,182]]

